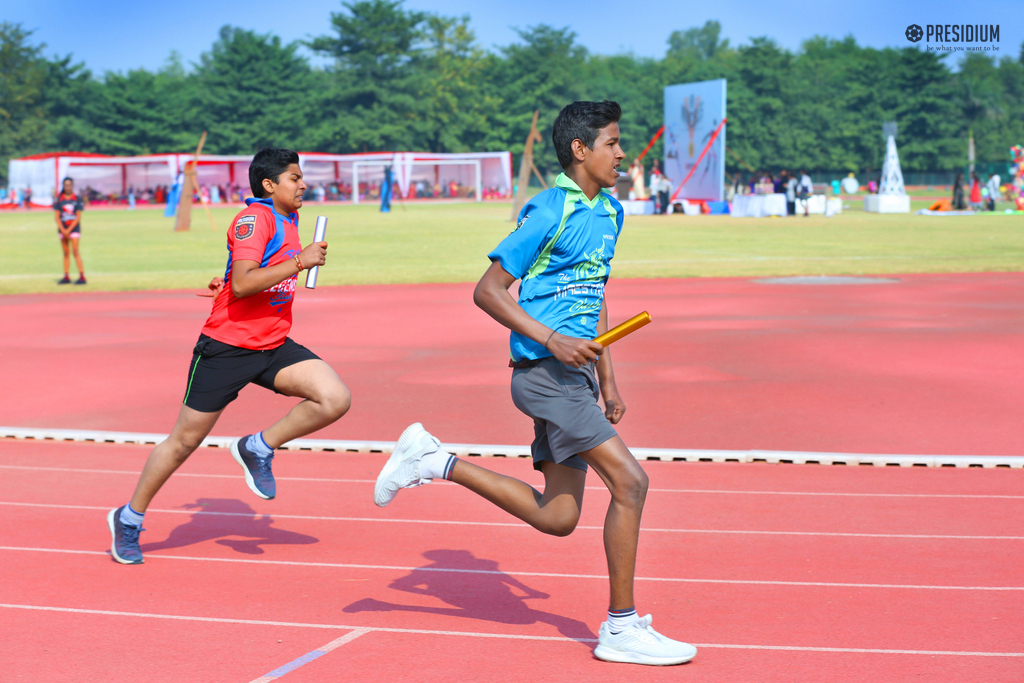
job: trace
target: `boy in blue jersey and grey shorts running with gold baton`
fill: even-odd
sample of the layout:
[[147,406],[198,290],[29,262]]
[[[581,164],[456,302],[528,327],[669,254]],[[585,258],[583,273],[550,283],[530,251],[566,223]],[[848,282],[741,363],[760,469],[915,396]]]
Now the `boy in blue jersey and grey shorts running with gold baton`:
[[[374,488],[383,507],[400,488],[444,478],[462,484],[538,530],[568,536],[580,520],[588,466],[611,493],[604,545],[611,584],[608,618],[594,654],[608,661],[682,664],[696,648],[639,617],[633,600],[647,475],[615,433],[626,405],[607,349],[593,339],[608,327],[604,287],[623,207],[605,188],[618,179],[622,110],[611,101],[572,102],[552,139],[564,173],[523,207],[515,230],[495,249],[473,300],[511,331],[512,400],[534,419],[534,467],[544,492],[440,450],[419,423],[395,444]],[[520,281],[516,301],[509,288]],[[604,398],[604,410],[598,404]]]

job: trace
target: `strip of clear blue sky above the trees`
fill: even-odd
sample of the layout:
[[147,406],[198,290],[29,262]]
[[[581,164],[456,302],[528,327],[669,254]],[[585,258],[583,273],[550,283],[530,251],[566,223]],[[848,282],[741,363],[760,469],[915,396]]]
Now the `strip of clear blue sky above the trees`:
[[[34,30],[48,55],[71,53],[97,74],[105,71],[158,69],[172,50],[185,63],[208,50],[225,24],[274,33],[286,41],[328,34],[331,12],[339,0],[255,3],[251,0],[178,0],[151,3],[108,0],[83,4],[69,0],[4,0],[0,20]],[[1024,2],[1019,0],[732,0],[692,3],[680,0],[595,0],[589,4],[551,0],[407,0],[406,7],[442,14],[469,14],[480,45],[487,48],[516,40],[515,27],[536,24],[569,27],[592,52],[665,54],[666,41],[677,29],[717,19],[733,45],[752,36],[769,36],[797,50],[814,35],[852,35],[871,47],[905,47],[910,24],[998,24],[1000,51],[1017,58],[1024,42]],[[567,11],[566,7],[571,7]],[[254,12],[258,8],[265,13]],[[919,46],[924,45],[924,41]],[[952,65],[951,65],[952,66]]]

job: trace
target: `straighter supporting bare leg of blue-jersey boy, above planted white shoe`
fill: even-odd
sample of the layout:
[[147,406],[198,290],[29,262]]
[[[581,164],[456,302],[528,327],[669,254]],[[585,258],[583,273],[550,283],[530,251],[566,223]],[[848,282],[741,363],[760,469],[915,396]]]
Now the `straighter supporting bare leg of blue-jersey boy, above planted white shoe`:
[[611,609],[634,606],[633,577],[636,572],[640,517],[647,498],[647,473],[623,439],[614,436],[601,445],[581,453],[611,494],[604,517],[604,552],[608,558]]

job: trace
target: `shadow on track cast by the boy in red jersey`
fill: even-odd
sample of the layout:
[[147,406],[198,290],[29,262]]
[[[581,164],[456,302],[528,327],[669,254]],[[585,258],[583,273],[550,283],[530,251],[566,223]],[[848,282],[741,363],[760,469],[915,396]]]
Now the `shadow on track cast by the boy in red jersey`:
[[[194,546],[206,541],[216,541],[236,552],[246,555],[262,555],[266,545],[309,545],[319,543],[319,539],[274,528],[269,515],[256,515],[249,504],[225,498],[201,498],[195,503],[182,506],[186,510],[197,510],[184,524],[174,527],[164,541],[141,545],[143,553],[169,548]],[[243,537],[243,538],[237,538]]]

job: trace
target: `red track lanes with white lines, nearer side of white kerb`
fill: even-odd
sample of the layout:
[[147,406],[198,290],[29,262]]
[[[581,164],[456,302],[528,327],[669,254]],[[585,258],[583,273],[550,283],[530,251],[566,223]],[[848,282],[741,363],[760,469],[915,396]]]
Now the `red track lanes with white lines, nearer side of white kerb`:
[[[645,463],[638,605],[700,646],[680,671],[603,664],[592,643],[566,640],[594,638],[606,607],[596,477],[580,528],[554,539],[452,484],[379,510],[384,456],[282,454],[268,502],[223,450],[204,450],[155,501],[146,563],[121,566],[103,552],[103,515],[146,453],[0,445],[0,603],[37,608],[0,607],[4,680],[252,681],[353,628],[372,631],[285,680],[1019,681],[1024,670],[1016,470]],[[535,478],[525,461],[486,464]]]

